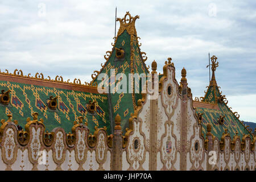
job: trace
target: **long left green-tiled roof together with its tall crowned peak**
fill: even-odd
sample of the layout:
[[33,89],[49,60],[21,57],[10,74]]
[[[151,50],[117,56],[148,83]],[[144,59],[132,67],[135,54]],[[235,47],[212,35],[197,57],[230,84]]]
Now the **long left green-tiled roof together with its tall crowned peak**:
[[[73,123],[83,117],[83,122],[91,134],[94,133],[95,127],[106,127],[110,135],[113,134],[114,118],[119,114],[125,133],[125,129],[129,127],[130,115],[137,109],[137,101],[142,96],[135,92],[117,93],[122,75],[116,78],[115,93],[111,90],[111,94],[100,94],[97,85],[102,80],[98,80],[97,77],[100,73],[106,73],[109,79],[112,79],[111,69],[114,69],[115,75],[121,73],[127,78],[129,73],[148,73],[148,67],[144,64],[147,60],[146,53],[141,52],[141,44],[138,43],[140,38],[135,29],[135,20],[138,18],[139,16],[133,17],[129,12],[124,18],[117,18],[120,27],[112,44],[112,51],[106,52],[105,64],[101,65],[100,71],[94,71],[93,80],[90,83],[85,82],[85,85],[81,84],[79,79],[72,83],[63,81],[61,76],[56,76],[55,80],[45,79],[42,73],[36,73],[35,77],[31,77],[31,74],[23,76],[23,72],[18,69],[13,74],[8,71],[0,72],[0,89],[3,93],[10,90],[9,104],[0,104],[1,119],[7,119],[7,114],[12,114],[13,119],[24,129],[27,118],[36,112],[39,118],[43,118],[46,130],[52,131],[55,127],[61,127],[69,133],[72,131]],[[117,56],[117,51],[121,49],[123,57],[117,59],[120,57]],[[129,82],[127,88],[128,84]],[[56,98],[57,102],[54,110],[49,107],[52,98]],[[93,113],[88,110],[90,103],[94,103],[96,107]]]

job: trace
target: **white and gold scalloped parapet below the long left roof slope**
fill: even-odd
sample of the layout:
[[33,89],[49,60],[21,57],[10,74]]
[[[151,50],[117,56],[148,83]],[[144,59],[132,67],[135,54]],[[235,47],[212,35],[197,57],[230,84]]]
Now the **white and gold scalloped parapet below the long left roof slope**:
[[[38,113],[33,113],[32,119],[27,118],[25,131],[18,130],[18,121],[13,121],[11,114],[7,116],[7,121],[1,120],[2,126],[0,127],[1,159],[6,165],[2,165],[1,169],[111,169],[110,155],[113,136],[107,135],[106,127],[96,128],[93,134],[95,144],[92,147],[88,139],[89,130],[84,125],[82,117],[74,122],[72,134],[66,134],[61,128],[45,132],[43,119],[38,119]],[[106,162],[109,166],[105,165]]]

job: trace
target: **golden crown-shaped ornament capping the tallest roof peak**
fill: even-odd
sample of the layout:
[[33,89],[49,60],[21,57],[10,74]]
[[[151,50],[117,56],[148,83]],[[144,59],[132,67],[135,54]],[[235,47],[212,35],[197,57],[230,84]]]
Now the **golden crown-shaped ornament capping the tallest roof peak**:
[[125,17],[121,18],[117,18],[117,21],[120,22],[120,28],[118,30],[117,36],[121,35],[123,31],[127,31],[128,34],[130,35],[136,35],[137,36],[137,32],[135,29],[135,20],[139,18],[138,15],[136,15],[135,17],[131,16],[131,14],[128,12],[126,12]]

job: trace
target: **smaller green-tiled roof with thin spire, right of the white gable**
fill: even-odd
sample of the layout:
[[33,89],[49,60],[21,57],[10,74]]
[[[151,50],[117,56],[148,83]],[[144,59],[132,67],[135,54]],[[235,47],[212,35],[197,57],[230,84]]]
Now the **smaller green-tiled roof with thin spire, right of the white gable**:
[[227,106],[228,101],[225,96],[222,95],[222,92],[220,92],[220,87],[217,86],[214,75],[216,67],[218,67],[216,59],[217,57],[212,57],[212,79],[210,85],[207,86],[208,89],[207,92],[205,92],[205,96],[200,99],[196,98],[193,102],[193,106],[196,107],[196,113],[203,113],[203,118],[201,119],[201,124],[203,126],[202,133],[205,137],[207,134],[207,124],[210,123],[210,125],[212,125],[212,134],[219,139],[221,139],[222,134],[225,133],[226,129],[231,138],[236,134],[240,136],[241,139],[243,135],[253,137],[250,131],[239,120],[240,115],[236,112],[233,113],[231,108]]

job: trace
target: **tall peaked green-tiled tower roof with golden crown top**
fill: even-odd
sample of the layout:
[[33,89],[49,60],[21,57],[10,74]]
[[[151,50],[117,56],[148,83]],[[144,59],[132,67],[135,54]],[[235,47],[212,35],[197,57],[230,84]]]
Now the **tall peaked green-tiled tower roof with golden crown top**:
[[[113,79],[113,75],[111,75],[111,69],[115,70],[115,93],[114,89],[109,90],[111,94],[109,94],[109,100],[111,101],[111,105],[113,110],[111,110],[111,118],[113,123],[113,118],[117,114],[119,114],[122,118],[121,127],[123,133],[125,133],[125,129],[129,127],[129,118],[130,114],[134,113],[134,109],[137,107],[137,101],[142,98],[140,93],[118,93],[118,85],[121,80],[119,78],[123,75],[126,75],[126,78],[129,78],[129,73],[149,73],[148,67],[144,61],[147,60],[145,56],[146,53],[141,52],[141,44],[138,43],[137,32],[135,29],[135,20],[138,19],[139,16],[132,17],[129,12],[126,13],[125,18],[120,19],[117,18],[117,21],[120,22],[120,27],[117,33],[117,37],[115,38],[114,44],[112,44],[112,51],[107,51],[104,56],[106,62],[102,65],[100,71],[95,71],[92,75],[93,80],[90,82],[90,85],[98,85],[101,80],[98,80],[98,75],[100,73],[106,73],[108,75],[108,80],[104,78],[105,82],[109,82],[110,79]],[[124,55],[121,58],[117,58],[118,50],[124,51]],[[114,73],[114,72],[113,72]],[[121,74],[118,76],[118,74]],[[110,85],[111,86],[111,85]],[[109,88],[110,88],[109,86]],[[129,81],[127,80],[127,89],[129,88]],[[141,88],[141,86],[139,87]],[[126,90],[127,90],[126,89]],[[136,90],[135,90],[136,91]]]

